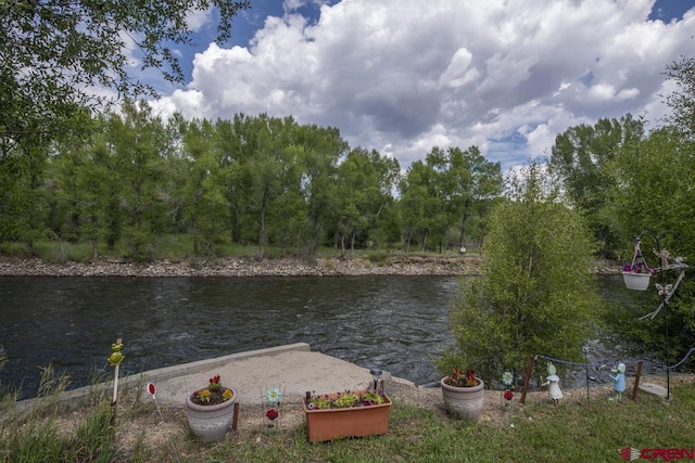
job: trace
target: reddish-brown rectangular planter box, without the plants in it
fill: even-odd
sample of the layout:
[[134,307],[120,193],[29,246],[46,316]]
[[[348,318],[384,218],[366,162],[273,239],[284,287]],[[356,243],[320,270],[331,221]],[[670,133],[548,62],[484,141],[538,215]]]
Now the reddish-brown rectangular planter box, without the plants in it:
[[[329,394],[328,396],[334,397],[337,394]],[[309,442],[332,440],[339,437],[364,437],[387,434],[389,432],[391,399],[387,396],[384,397],[387,401],[378,406],[325,410],[307,409],[306,398],[302,398]]]

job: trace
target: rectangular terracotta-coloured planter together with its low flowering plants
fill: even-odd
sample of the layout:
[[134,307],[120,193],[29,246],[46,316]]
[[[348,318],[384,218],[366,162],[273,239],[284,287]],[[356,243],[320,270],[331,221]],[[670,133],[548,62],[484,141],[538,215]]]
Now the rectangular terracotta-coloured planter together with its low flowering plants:
[[309,442],[387,434],[391,400],[382,389],[346,390],[302,399]]

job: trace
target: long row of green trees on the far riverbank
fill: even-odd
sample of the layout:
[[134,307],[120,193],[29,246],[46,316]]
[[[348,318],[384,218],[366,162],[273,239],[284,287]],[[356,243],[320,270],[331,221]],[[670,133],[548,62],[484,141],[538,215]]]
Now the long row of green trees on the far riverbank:
[[[265,114],[164,121],[127,101],[45,153],[3,153],[0,241],[125,244],[152,257],[162,234],[194,256],[228,244],[314,255],[319,246],[428,250],[479,242],[500,197],[500,163],[476,147],[433,147],[405,172],[395,158],[351,149],[338,129]],[[21,175],[13,175],[21,168]]]

